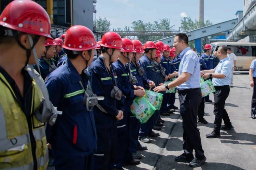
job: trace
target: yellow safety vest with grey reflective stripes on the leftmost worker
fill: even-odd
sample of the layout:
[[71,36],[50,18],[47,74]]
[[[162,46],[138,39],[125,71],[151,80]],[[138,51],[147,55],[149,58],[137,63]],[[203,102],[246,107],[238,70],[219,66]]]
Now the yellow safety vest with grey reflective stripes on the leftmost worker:
[[[0,169],[32,170],[33,156],[25,113],[16,100],[14,91],[0,73]],[[42,91],[32,81],[31,113],[42,101]],[[36,141],[38,170],[48,165],[45,126],[34,115],[31,117],[32,131]]]

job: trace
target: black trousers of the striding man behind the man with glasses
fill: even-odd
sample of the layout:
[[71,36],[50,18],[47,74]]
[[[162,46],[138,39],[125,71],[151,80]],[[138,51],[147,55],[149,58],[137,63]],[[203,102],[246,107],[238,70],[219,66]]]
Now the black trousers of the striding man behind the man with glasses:
[[222,119],[226,126],[230,126],[231,122],[228,117],[228,113],[225,109],[225,102],[229,95],[229,85],[215,86],[216,92],[214,93],[214,131],[219,134],[221,130]]

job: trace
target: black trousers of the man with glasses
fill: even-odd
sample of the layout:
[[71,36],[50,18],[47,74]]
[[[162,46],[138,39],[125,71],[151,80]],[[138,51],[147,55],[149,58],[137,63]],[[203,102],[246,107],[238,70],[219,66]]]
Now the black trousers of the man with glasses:
[[178,90],[180,99],[180,113],[183,127],[183,150],[188,157],[202,159],[204,151],[201,144],[200,132],[197,128],[197,112],[202,100],[200,88]]

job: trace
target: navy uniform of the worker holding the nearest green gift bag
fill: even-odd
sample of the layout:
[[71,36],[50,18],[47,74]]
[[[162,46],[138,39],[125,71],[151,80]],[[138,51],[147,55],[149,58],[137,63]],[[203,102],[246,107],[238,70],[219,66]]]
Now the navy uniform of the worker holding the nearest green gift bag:
[[117,60],[113,63],[115,66],[117,77],[119,78],[119,82],[121,84],[121,90],[126,96],[124,106],[124,118],[117,122],[117,140],[118,140],[118,151],[116,155],[115,167],[122,168],[123,162],[130,162],[133,158],[132,155],[129,155],[129,158],[125,159],[125,152],[128,151],[128,137],[129,137],[129,115],[128,111],[132,104],[134,98],[134,90],[129,82],[129,69],[126,67],[120,60]]

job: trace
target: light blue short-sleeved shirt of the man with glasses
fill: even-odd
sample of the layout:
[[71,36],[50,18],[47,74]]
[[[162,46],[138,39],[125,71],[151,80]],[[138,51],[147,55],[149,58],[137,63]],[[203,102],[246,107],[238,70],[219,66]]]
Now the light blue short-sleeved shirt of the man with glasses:
[[189,88],[199,88],[200,87],[200,65],[197,54],[190,49],[190,47],[185,48],[181,52],[181,63],[179,67],[179,76],[183,72],[190,73],[188,80],[177,86],[179,90],[189,89]]

